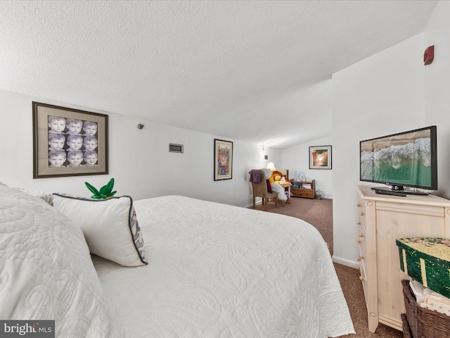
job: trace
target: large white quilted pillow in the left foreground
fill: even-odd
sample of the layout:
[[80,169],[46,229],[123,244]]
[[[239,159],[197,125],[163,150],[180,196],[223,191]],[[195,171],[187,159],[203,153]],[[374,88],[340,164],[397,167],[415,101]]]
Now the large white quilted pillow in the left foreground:
[[82,230],[0,185],[0,318],[55,320],[55,337],[120,337]]

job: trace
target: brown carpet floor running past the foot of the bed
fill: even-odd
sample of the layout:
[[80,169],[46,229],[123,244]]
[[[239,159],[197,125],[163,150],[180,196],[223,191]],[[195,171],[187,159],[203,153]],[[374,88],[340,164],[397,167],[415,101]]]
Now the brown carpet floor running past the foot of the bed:
[[[264,206],[261,204],[258,204],[256,208],[261,211],[264,210]],[[333,200],[302,199],[293,197],[290,200],[290,204],[286,204],[284,207],[278,206],[278,208],[275,208],[275,204],[269,203],[267,211],[301,218],[302,220],[311,223],[311,225],[314,225],[314,227],[322,234],[325,242],[329,244],[331,254],[333,255]],[[335,270],[342,287],[342,292],[344,292],[347,305],[349,306],[354,330],[356,332],[356,335],[349,334],[341,336],[340,338],[403,337],[402,332],[383,324],[378,325],[375,333],[369,332],[366,301],[364,300],[364,291],[361,281],[359,280],[359,270],[336,263]]]

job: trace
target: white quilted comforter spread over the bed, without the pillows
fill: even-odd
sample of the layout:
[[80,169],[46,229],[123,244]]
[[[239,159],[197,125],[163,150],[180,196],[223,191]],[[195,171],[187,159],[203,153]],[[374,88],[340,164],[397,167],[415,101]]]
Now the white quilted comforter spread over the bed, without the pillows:
[[127,337],[354,333],[326,243],[309,223],[183,196],[134,206],[148,265],[93,257]]

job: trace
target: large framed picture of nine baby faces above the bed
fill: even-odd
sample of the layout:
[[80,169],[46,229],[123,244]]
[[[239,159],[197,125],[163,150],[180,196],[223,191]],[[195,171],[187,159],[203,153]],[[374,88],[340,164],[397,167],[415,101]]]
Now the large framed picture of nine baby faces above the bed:
[[108,174],[108,115],[32,107],[33,178]]

